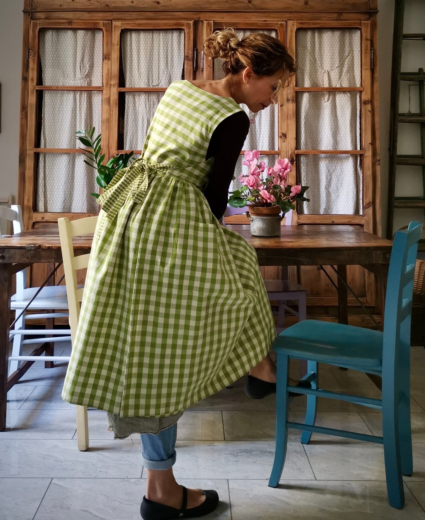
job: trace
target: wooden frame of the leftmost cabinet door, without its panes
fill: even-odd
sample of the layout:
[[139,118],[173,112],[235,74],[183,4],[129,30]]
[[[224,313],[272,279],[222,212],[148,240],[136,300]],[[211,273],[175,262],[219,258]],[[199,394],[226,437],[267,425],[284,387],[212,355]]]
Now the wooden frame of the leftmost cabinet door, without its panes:
[[[98,29],[102,31],[102,86],[64,87],[57,85],[37,85],[38,63],[40,58],[39,36],[42,29]],[[101,148],[109,149],[109,101],[110,101],[110,56],[111,56],[111,22],[110,21],[62,21],[41,20],[30,21],[30,37],[28,51],[28,120],[27,142],[25,149],[25,184],[23,201],[24,228],[31,229],[36,222],[57,222],[59,217],[70,219],[93,216],[92,213],[51,213],[35,211],[35,153],[82,153],[79,148],[35,148],[37,112],[37,90],[85,90],[102,92],[101,108]]]

